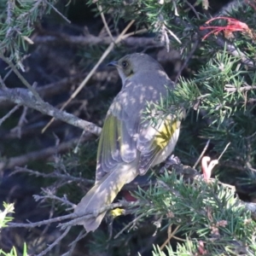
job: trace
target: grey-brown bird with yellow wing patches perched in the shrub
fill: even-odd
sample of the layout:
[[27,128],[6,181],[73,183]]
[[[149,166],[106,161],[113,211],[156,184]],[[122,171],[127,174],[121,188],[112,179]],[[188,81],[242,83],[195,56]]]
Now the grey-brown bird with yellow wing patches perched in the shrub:
[[[74,209],[78,215],[108,207],[125,183],[166,160],[179,136],[182,114],[165,115],[155,107],[175,89],[160,63],[134,53],[108,65],[117,68],[122,88],[108,109],[97,149],[96,182]],[[147,118],[148,109],[156,122]],[[94,231],[105,214],[77,224]]]

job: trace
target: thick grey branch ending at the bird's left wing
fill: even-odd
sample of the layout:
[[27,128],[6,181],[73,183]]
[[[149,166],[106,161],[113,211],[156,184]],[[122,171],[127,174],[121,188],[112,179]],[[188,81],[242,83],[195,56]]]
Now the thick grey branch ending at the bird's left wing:
[[0,89],[0,102],[9,101],[16,104],[20,104],[22,106],[26,106],[27,108],[36,109],[41,113],[47,114],[49,116],[54,117],[55,119],[60,119],[61,121],[66,122],[69,125],[73,125],[79,127],[85,131],[89,131],[95,135],[99,135],[102,129],[93,123],[88,121],[84,121],[83,119],[79,119],[71,113],[63,112],[53,106],[49,105],[49,103],[44,101],[38,101],[35,96],[29,90],[22,88],[15,89]]

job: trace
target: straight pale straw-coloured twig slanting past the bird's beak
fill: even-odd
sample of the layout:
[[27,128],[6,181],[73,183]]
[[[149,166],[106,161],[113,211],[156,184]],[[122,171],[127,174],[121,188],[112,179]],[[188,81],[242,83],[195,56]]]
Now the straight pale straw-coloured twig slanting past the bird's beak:
[[[113,49],[115,44],[119,44],[119,42],[122,40],[123,36],[125,35],[125,32],[127,32],[127,30],[131,27],[131,25],[134,23],[135,20],[131,20],[130,23],[125,27],[125,29],[123,30],[123,32],[121,32],[119,34],[119,37],[115,39],[114,42],[112,42],[111,44],[109,44],[108,49],[105,50],[105,52],[102,54],[102,57],[100,58],[99,61],[97,61],[96,65],[90,70],[90,73],[87,75],[87,77],[84,79],[84,81],[79,85],[79,87],[77,88],[77,90],[75,90],[72,94],[72,96],[69,97],[69,99],[67,100],[67,102],[65,102],[63,104],[63,106],[61,107],[61,110],[63,110],[64,108],[67,107],[67,105],[73,100],[73,98],[75,98],[80,90],[82,90],[85,86],[85,84],[87,84],[87,82],[90,80],[91,76],[96,72],[96,69],[101,65],[102,61],[105,60],[105,58],[108,56],[108,54],[111,52],[111,50]],[[46,131],[46,129],[49,127],[49,125],[51,125],[51,123],[55,120],[55,118],[50,119],[49,123],[47,125],[44,126],[44,129],[42,130],[42,133],[44,133],[44,131]]]

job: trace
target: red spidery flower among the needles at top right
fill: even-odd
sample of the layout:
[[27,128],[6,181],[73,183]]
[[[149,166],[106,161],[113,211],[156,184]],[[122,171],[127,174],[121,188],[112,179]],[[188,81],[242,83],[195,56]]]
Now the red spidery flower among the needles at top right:
[[224,37],[225,38],[231,38],[233,37],[233,32],[247,32],[248,34],[251,33],[251,30],[247,26],[246,23],[243,23],[239,20],[229,18],[229,17],[216,17],[211,20],[208,20],[206,24],[209,24],[212,20],[227,20],[228,25],[227,26],[200,26],[200,30],[205,30],[205,29],[213,29],[211,32],[208,32],[207,35],[205,35],[202,40],[205,40],[209,35],[212,33],[214,35],[217,35],[219,32],[224,32]]

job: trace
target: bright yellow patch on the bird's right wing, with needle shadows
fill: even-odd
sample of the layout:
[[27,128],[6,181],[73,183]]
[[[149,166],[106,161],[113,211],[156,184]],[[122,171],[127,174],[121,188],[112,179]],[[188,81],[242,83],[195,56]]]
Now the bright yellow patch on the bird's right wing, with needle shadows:
[[154,137],[154,144],[160,148],[166,148],[167,144],[172,140],[173,133],[177,130],[177,121],[165,119]]

